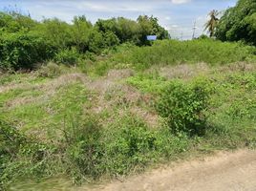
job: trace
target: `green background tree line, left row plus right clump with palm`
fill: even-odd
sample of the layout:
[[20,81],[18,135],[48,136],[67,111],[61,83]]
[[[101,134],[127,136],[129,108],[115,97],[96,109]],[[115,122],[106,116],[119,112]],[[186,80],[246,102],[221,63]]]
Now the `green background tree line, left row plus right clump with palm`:
[[[211,11],[205,29],[210,37],[222,41],[243,41],[256,45],[256,1],[239,0],[234,8]],[[146,35],[169,38],[158,18],[140,15],[135,20],[124,17],[98,19],[95,24],[75,16],[72,23],[57,18],[33,20],[17,11],[0,12],[0,70],[31,70],[35,63],[53,59],[74,64],[80,55],[102,53],[119,44],[145,46]]]

